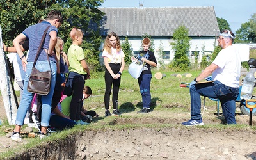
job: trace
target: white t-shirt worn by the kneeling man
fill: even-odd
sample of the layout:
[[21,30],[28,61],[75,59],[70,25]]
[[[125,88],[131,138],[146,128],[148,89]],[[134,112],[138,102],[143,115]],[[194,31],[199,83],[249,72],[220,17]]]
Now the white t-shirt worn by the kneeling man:
[[212,62],[218,68],[212,73],[212,79],[218,80],[226,86],[239,88],[241,59],[234,46],[222,49]]

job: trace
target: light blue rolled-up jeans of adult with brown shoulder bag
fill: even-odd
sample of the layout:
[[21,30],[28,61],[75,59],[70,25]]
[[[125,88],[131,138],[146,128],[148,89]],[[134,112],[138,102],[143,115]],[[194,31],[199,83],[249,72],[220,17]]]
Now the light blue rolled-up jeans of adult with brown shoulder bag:
[[[49,120],[51,116],[51,103],[52,103],[52,95],[54,92],[55,82],[56,82],[56,63],[50,61],[51,70],[52,70],[52,77],[51,77],[51,88],[48,95],[42,95],[42,120],[41,125],[43,127],[47,127],[49,125]],[[28,111],[29,106],[31,105],[31,100],[33,99],[33,93],[28,92],[28,81],[29,76],[31,74],[31,70],[33,67],[33,62],[29,61],[26,68],[26,77],[24,81],[24,88],[22,93],[22,99],[20,100],[19,108],[17,111],[16,117],[16,125],[23,125],[24,118]],[[47,71],[50,70],[49,62],[48,61],[37,61],[36,62],[36,69],[39,71]]]

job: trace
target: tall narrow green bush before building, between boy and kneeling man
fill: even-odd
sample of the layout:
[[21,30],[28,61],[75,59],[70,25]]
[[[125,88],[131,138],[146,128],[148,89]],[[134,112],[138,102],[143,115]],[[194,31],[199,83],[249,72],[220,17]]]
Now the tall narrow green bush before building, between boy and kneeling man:
[[173,51],[175,52],[173,67],[180,68],[180,70],[183,71],[188,71],[190,65],[188,52],[190,49],[191,38],[189,38],[188,33],[188,29],[184,25],[179,26],[173,33],[174,42],[170,43]]

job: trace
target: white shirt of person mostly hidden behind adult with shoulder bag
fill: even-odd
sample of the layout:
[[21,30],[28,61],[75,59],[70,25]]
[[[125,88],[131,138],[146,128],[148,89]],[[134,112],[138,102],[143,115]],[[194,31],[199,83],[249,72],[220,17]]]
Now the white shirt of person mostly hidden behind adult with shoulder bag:
[[13,64],[14,76],[16,81],[23,81],[25,79],[25,72],[22,69],[22,62],[19,58],[19,55],[15,52],[7,54],[10,63]]

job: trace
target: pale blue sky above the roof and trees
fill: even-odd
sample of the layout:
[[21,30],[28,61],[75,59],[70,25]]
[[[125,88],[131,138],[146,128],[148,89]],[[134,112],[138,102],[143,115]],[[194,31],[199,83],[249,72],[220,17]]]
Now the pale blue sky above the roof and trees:
[[234,33],[256,13],[256,0],[104,0],[100,7],[214,6],[216,17],[227,20]]

